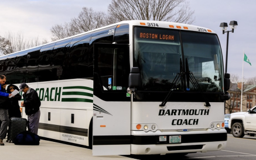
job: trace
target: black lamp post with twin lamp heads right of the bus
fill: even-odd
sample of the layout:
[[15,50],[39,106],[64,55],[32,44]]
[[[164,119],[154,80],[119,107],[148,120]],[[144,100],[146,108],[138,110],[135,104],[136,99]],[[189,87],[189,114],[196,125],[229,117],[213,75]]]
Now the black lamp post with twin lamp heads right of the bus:
[[[228,36],[229,36],[230,32],[234,33],[234,29],[238,26],[237,21],[235,21],[235,20],[230,21],[229,25],[232,30],[227,30],[226,22],[220,23],[220,27],[222,29],[222,34],[227,33],[226,68],[225,68],[226,73],[227,73]],[[225,32],[225,30],[227,30],[227,31]]]

